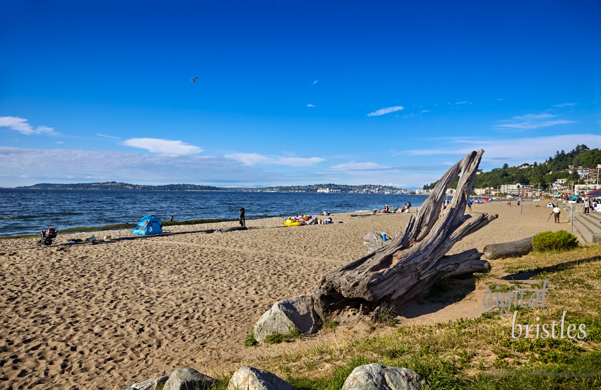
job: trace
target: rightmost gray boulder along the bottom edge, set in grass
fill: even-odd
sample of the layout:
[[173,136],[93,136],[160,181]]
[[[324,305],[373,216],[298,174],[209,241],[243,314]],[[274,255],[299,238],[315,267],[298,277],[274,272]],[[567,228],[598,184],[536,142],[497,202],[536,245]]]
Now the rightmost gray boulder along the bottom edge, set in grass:
[[409,368],[372,363],[355,368],[341,390],[418,390],[424,384],[424,377]]

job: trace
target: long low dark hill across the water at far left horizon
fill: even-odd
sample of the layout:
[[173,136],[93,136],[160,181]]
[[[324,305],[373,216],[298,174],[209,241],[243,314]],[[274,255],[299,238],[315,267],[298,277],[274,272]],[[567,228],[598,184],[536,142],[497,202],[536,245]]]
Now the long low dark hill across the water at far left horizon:
[[27,185],[25,188],[31,190],[147,190],[147,191],[224,191],[225,188],[213,187],[212,185],[196,184],[166,184],[166,185],[139,185],[129,183],[118,183],[108,181],[104,183],[76,183],[76,184],[50,184],[40,183]]

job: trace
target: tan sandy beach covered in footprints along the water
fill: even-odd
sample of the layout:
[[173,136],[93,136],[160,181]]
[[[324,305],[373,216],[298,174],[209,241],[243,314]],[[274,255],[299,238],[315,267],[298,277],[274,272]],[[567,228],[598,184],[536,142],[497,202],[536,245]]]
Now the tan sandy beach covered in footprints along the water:
[[[516,203],[516,202],[513,202]],[[541,202],[542,203],[542,202]],[[415,209],[412,209],[415,212]],[[451,252],[514,241],[546,230],[549,208],[526,202],[475,205],[499,218]],[[359,213],[362,214],[362,213]],[[70,247],[0,240],[0,386],[5,389],[114,389],[189,366],[214,374],[236,362],[311,345],[306,340],[245,348],[252,323],[279,299],[310,293],[329,269],[365,254],[370,230],[391,236],[409,214],[350,217],[345,224],[284,227],[249,220],[249,230],[189,233]],[[169,226],[221,229],[236,222]],[[130,230],[96,232],[98,238]],[[85,239],[92,233],[59,235]],[[494,261],[494,260],[493,260]],[[335,334],[319,335],[328,342]]]

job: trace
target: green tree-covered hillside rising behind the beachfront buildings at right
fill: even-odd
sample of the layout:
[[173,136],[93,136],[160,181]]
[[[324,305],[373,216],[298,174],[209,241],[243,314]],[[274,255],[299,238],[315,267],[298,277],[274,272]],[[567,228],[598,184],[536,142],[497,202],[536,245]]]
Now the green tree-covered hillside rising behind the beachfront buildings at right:
[[[501,168],[495,168],[490,172],[483,172],[476,176],[472,188],[499,187],[503,184],[520,183],[547,188],[549,183],[557,179],[570,179],[578,181],[578,173],[575,171],[570,175],[569,172],[561,172],[568,169],[570,165],[575,167],[594,169],[597,164],[601,164],[601,151],[599,149],[589,149],[587,145],[577,145],[569,152],[557,151],[554,157],[549,157],[544,163],[534,163],[528,166],[527,163],[517,167],[510,167],[504,164]],[[457,188],[456,179],[451,188]],[[434,188],[436,182],[424,185],[424,190]]]

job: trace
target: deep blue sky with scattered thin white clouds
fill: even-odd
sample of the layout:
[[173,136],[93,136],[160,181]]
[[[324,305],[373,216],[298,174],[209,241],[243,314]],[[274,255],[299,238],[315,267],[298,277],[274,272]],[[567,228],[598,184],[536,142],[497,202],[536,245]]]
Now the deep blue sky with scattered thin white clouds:
[[598,1],[0,8],[1,187],[411,188],[601,146]]

